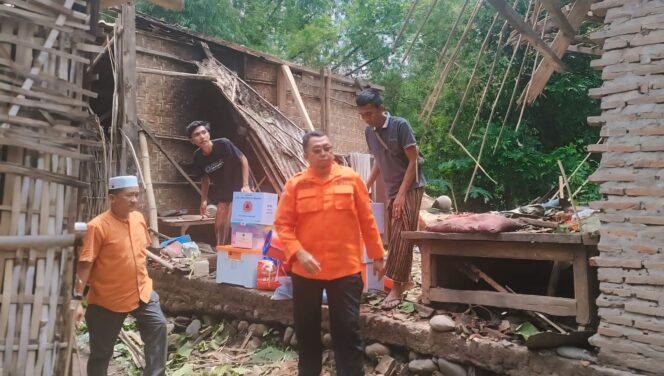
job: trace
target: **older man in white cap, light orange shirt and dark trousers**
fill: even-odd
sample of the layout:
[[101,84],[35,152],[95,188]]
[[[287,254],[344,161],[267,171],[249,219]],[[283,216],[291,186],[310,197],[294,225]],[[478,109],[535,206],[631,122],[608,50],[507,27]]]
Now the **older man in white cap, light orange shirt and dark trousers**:
[[[143,375],[165,375],[166,318],[159,296],[148,276],[145,247],[148,227],[138,203],[135,176],[110,179],[110,209],[88,223],[77,266],[75,298],[89,284],[85,321],[90,333],[88,375],[106,375],[122,323],[128,314],[136,319],[145,342]],[[79,317],[82,316],[79,306]]]

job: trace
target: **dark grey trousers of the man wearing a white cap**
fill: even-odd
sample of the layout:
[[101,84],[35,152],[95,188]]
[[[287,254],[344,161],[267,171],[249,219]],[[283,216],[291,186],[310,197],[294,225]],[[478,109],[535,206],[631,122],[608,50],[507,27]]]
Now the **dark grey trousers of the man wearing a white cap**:
[[148,303],[140,302],[139,307],[131,312],[113,312],[94,304],[88,306],[85,312],[85,322],[90,333],[88,376],[106,376],[115,341],[129,314],[136,319],[138,331],[145,343],[143,375],[166,374],[166,318],[159,306],[159,295],[153,291]]

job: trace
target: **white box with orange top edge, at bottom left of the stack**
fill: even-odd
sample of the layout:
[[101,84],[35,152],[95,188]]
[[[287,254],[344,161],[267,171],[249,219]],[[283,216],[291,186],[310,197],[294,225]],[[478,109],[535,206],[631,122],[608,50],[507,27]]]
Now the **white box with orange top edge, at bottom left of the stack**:
[[260,249],[217,246],[217,283],[229,283],[256,288],[258,262],[263,259]]

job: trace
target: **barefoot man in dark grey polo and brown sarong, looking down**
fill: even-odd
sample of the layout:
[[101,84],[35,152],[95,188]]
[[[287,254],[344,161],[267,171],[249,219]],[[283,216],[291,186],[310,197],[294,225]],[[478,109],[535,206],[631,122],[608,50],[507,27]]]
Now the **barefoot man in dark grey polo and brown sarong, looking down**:
[[417,230],[424,175],[419,165],[419,148],[408,121],[386,113],[383,99],[376,89],[362,91],[355,101],[360,117],[369,125],[364,135],[376,161],[367,187],[370,188],[381,176],[389,199],[385,275],[394,280],[394,287],[385,298],[383,308],[392,309],[399,304],[402,293],[413,287],[413,245],[401,237],[401,232]]

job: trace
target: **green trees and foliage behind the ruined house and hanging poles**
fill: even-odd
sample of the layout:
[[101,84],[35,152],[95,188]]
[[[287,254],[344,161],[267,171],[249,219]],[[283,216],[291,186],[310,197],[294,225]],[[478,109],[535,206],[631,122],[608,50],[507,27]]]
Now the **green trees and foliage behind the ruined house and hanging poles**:
[[[529,48],[526,53],[525,45],[521,45],[509,64],[514,44],[506,41],[511,29],[507,28],[497,49],[504,19],[499,17],[490,28],[495,15],[492,7],[481,8],[462,45],[457,64],[451,68],[431,120],[428,124],[417,120],[442,68],[439,55],[463,3],[462,0],[438,2],[421,35],[414,40],[415,31],[431,4],[430,1],[418,2],[394,51],[394,38],[412,2],[188,0],[182,12],[166,11],[144,0],[139,0],[137,6],[140,11],[203,34],[246,44],[301,64],[328,66],[341,74],[353,72],[383,85],[387,110],[410,120],[416,132],[426,159],[427,192],[434,196],[451,195],[461,210],[509,209],[546,195],[557,185],[558,160],[568,175],[580,164],[571,178],[572,188],[580,187],[598,165],[594,158],[581,162],[586,155],[585,145],[598,139],[598,129],[588,127],[586,118],[599,113],[599,104],[587,93],[589,88],[601,86],[601,77],[590,69],[588,56],[568,53],[564,57],[568,71],[554,73],[544,92],[526,106],[520,116],[521,105],[516,100],[510,102],[511,94],[515,83],[518,84],[515,99],[525,91],[536,52]],[[525,3],[519,2],[521,14],[525,13],[524,7]],[[451,35],[443,65],[456,45],[471,8],[472,4],[465,9],[460,27]],[[598,26],[586,22],[580,29],[585,33]],[[452,142],[448,132],[487,33],[490,33],[490,43],[479,60],[475,84],[459,112],[453,134],[477,157],[484,132],[489,127],[480,162],[496,183],[477,171],[469,186],[475,163]],[[401,57],[413,40],[413,48],[402,65]],[[497,50],[501,55],[494,79],[487,85]],[[524,72],[518,77],[524,59]],[[506,71],[506,84],[495,101]],[[486,100],[481,103],[485,87]],[[495,111],[489,121],[494,101]],[[508,107],[511,107],[509,112]],[[577,195],[581,202],[598,197],[598,188],[592,183],[586,184]]]

